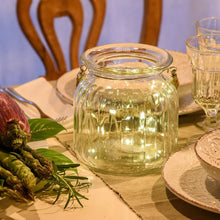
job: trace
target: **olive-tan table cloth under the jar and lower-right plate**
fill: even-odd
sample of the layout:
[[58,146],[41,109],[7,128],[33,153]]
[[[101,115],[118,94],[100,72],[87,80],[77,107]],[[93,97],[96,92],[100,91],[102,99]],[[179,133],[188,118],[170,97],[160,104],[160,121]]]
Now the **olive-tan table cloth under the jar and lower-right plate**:
[[[203,133],[195,125],[199,116],[199,113],[194,113],[180,118],[176,151],[186,147],[189,137]],[[58,138],[66,147],[72,146],[72,134]],[[140,219],[220,219],[220,215],[190,205],[172,194],[166,188],[160,171],[136,177],[100,173],[96,175],[118,194]]]

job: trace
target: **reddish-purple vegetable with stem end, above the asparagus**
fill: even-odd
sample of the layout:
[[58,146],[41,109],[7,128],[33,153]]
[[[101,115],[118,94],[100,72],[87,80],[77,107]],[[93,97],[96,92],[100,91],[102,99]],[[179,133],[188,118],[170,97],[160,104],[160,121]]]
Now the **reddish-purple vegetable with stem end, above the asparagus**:
[[17,149],[30,138],[30,126],[19,105],[0,91],[0,145]]

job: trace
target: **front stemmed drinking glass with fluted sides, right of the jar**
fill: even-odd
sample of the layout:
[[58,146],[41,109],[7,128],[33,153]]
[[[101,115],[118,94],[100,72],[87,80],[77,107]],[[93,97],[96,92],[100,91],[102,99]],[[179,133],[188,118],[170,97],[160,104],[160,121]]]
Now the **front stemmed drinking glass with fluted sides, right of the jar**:
[[192,94],[206,113],[205,131],[219,127],[220,109],[220,34],[195,35],[186,41],[193,73]]

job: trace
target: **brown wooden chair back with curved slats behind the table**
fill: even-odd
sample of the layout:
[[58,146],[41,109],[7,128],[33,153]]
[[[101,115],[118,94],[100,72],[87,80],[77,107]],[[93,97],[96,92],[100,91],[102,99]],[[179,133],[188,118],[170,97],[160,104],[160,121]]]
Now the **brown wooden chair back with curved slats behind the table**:
[[[94,16],[86,40],[85,49],[97,45],[104,22],[106,0],[90,0]],[[64,54],[54,30],[56,17],[68,16],[73,25],[70,40],[71,69],[79,66],[79,43],[83,26],[83,7],[80,0],[40,0],[38,21],[51,54],[42,43],[30,17],[32,0],[17,0],[17,17],[26,38],[36,50],[45,66],[47,80],[58,79],[67,72]],[[162,14],[162,0],[144,0],[144,16],[140,42],[157,45]]]

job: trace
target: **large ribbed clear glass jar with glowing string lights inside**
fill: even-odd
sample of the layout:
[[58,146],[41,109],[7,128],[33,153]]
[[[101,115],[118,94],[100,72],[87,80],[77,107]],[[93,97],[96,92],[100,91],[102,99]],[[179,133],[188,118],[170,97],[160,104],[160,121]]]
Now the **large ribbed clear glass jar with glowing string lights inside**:
[[178,96],[162,74],[172,56],[144,44],[85,51],[74,95],[74,151],[98,172],[139,175],[160,168],[177,143]]

